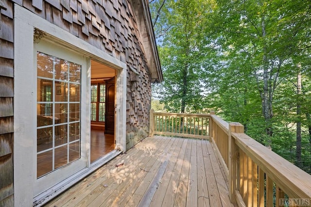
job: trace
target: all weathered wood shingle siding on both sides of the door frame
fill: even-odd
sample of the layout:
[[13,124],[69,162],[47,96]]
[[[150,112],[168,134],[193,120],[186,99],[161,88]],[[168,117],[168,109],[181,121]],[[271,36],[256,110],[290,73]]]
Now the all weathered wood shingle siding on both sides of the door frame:
[[[137,2],[133,4],[132,0],[0,0],[0,206],[13,206],[14,202],[15,3],[128,65],[126,147],[130,148],[148,136],[151,106],[150,70],[133,12],[133,6]],[[130,78],[133,76],[130,67],[138,71],[137,79]]]

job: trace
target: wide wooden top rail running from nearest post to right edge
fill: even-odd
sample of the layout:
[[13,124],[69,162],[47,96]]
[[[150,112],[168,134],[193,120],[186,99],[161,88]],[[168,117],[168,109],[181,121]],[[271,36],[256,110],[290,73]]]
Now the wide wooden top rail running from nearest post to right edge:
[[232,133],[232,137],[238,147],[288,196],[311,198],[311,175],[244,133]]

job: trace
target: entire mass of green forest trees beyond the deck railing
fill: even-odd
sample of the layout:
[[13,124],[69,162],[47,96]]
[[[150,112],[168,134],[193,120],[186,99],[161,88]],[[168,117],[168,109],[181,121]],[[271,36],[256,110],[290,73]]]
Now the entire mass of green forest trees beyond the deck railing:
[[311,0],[151,0],[166,111],[208,113],[311,173]]

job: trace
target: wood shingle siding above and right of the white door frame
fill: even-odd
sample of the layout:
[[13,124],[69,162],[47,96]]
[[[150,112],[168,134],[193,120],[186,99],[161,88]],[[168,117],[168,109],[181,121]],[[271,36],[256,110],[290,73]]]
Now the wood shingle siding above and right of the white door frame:
[[22,6],[128,65],[126,148],[148,136],[151,77],[132,1],[23,0]]

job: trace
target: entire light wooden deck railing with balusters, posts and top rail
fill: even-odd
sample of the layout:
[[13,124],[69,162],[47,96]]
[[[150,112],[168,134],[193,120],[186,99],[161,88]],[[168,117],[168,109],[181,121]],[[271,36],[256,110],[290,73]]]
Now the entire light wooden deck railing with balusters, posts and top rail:
[[[208,126],[198,121],[195,125],[194,120],[190,125],[187,122],[201,117],[208,120],[199,122]],[[205,134],[186,134],[186,126],[188,131],[204,129]],[[230,200],[239,207],[311,207],[311,175],[244,134],[240,123],[228,124],[214,112],[178,114],[152,110],[150,135],[153,134],[209,139],[228,180]]]

